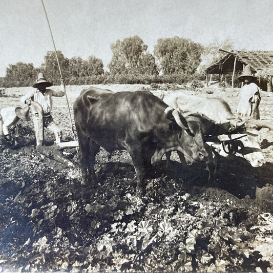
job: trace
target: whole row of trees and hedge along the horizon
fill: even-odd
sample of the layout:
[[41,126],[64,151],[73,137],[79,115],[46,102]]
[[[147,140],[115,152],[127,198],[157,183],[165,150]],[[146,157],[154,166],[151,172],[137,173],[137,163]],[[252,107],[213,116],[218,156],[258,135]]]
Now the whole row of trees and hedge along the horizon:
[[[112,59],[104,70],[103,62],[95,56],[87,60],[81,57],[67,58],[57,51],[62,76],[67,85],[99,83],[182,83],[200,77],[202,68],[211,65],[219,57],[218,48],[232,48],[227,39],[222,44],[214,42],[208,47],[190,39],[160,38],[153,54],[139,36],[117,40],[111,45]],[[17,62],[9,65],[3,78],[4,87],[32,86],[37,74],[43,72],[54,84],[59,84],[59,68],[55,51],[48,51],[39,68],[33,64]]]

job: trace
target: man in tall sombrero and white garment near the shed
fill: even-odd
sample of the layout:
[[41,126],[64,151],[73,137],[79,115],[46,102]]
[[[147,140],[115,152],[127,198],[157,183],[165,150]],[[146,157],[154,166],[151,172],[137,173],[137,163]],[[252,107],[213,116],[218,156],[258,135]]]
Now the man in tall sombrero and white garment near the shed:
[[251,73],[250,66],[244,68],[243,74],[238,77],[244,82],[239,95],[237,113],[241,119],[260,119],[259,104],[261,101],[260,89],[254,82],[257,77]]

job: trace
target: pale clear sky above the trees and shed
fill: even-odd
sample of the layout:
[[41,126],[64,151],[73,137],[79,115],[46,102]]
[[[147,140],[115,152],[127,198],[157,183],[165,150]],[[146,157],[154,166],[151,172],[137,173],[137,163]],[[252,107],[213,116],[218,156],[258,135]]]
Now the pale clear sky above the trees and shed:
[[[273,0],[43,0],[57,50],[65,57],[112,57],[111,44],[138,35],[153,53],[159,38],[207,46],[273,50]],[[22,61],[39,67],[54,50],[41,0],[0,0],[0,76]]]

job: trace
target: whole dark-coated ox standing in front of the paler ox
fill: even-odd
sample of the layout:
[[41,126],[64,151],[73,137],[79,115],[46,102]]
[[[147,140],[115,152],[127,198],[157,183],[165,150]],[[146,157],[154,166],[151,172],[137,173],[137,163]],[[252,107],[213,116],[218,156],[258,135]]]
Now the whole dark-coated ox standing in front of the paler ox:
[[102,146],[108,152],[127,150],[137,176],[137,190],[145,188],[146,166],[163,154],[178,150],[196,160],[206,160],[203,119],[187,121],[158,97],[147,91],[117,92],[91,87],[74,103],[79,140],[82,183],[96,181],[95,156]]

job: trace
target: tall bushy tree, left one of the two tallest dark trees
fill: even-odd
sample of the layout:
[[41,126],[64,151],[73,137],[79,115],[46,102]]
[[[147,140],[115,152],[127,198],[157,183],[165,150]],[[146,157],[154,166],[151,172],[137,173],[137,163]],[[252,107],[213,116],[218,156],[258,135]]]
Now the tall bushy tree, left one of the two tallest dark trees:
[[117,40],[116,44],[111,45],[113,56],[109,64],[110,73],[156,74],[155,58],[147,49],[148,46],[139,36]]

